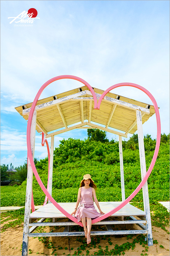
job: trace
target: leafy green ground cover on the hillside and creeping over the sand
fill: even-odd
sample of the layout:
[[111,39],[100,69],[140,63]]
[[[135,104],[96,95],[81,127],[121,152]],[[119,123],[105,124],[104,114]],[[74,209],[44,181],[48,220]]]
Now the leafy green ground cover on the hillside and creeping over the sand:
[[[94,138],[95,136],[93,136]],[[161,137],[162,138],[162,137]],[[159,155],[153,171],[148,178],[149,200],[152,226],[163,229],[169,234],[169,213],[159,201],[169,201],[169,139],[164,137],[161,142]],[[150,136],[145,139],[147,168],[155,149],[155,140]],[[141,182],[140,162],[137,137],[134,136],[128,143],[123,142],[124,178],[126,198]],[[36,161],[36,168],[45,186],[48,179],[48,159]],[[20,168],[22,170],[23,168]],[[96,195],[99,201],[121,201],[121,177],[118,142],[101,142],[95,140],[63,140],[54,151],[53,191],[52,196],[57,202],[76,202],[79,182],[84,174],[90,173],[97,185]],[[26,193],[26,180],[20,186],[1,186],[1,206],[24,206]],[[35,205],[42,205],[45,195],[41,191],[35,177],[33,177],[33,195]],[[131,204],[143,210],[142,190],[133,198]],[[23,227],[24,208],[13,212],[1,213],[1,232],[10,228]],[[46,221],[52,221],[47,219]],[[38,227],[35,232],[45,232],[45,227]],[[51,232],[56,232],[52,229]],[[77,227],[79,229],[81,227]],[[77,237],[77,248],[55,244],[49,237],[40,237],[39,242],[52,250],[51,255],[124,255],[125,251],[135,249],[137,244],[142,246],[141,255],[147,255],[148,246],[145,235],[124,236],[125,243],[121,245],[112,242],[113,236],[92,237],[90,247],[84,237]],[[70,239],[70,238],[68,238]],[[101,245],[107,240],[106,245]],[[153,241],[156,248],[164,246]],[[94,254],[91,250],[95,249]],[[21,250],[21,249],[20,249]],[[64,252],[63,252],[64,250]],[[62,254],[60,253],[62,251]],[[40,252],[29,250],[29,254]]]

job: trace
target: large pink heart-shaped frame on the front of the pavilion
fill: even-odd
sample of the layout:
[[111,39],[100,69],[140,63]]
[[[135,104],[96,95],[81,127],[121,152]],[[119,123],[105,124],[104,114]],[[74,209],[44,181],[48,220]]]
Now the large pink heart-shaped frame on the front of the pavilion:
[[32,157],[32,151],[31,151],[31,140],[30,140],[30,135],[31,135],[31,123],[32,123],[32,117],[33,117],[33,113],[36,107],[36,103],[42,93],[42,91],[44,90],[45,87],[47,87],[50,83],[56,81],[56,80],[60,80],[60,79],[74,79],[77,80],[81,83],[83,83],[84,85],[87,86],[87,88],[89,88],[89,90],[91,91],[93,98],[94,98],[94,109],[100,109],[100,104],[102,99],[104,98],[104,96],[112,89],[117,88],[117,87],[121,87],[121,86],[131,86],[131,87],[135,87],[140,89],[141,91],[145,92],[151,99],[151,101],[153,102],[154,108],[155,108],[155,114],[156,114],[156,122],[157,122],[157,140],[156,140],[156,146],[155,146],[155,152],[151,161],[151,164],[149,166],[149,169],[146,173],[146,175],[144,176],[143,180],[141,181],[141,183],[138,185],[138,187],[134,190],[134,192],[125,200],[123,201],[121,204],[119,204],[117,207],[115,207],[113,210],[111,210],[108,213],[105,213],[104,215],[93,219],[92,223],[101,221],[107,217],[109,217],[110,215],[112,215],[113,213],[117,212],[118,210],[120,210],[123,206],[125,206],[127,203],[130,202],[130,200],[132,200],[134,198],[134,196],[141,190],[142,186],[145,184],[145,182],[147,181],[149,175],[151,174],[151,171],[154,167],[157,155],[158,155],[158,151],[159,151],[159,145],[160,145],[160,137],[161,137],[161,130],[160,130],[160,116],[159,116],[159,109],[157,106],[157,103],[155,101],[155,98],[152,96],[152,94],[147,91],[145,88],[143,88],[142,86],[135,84],[135,83],[118,83],[115,84],[111,87],[109,87],[105,92],[103,92],[103,94],[101,95],[98,104],[97,104],[97,98],[96,98],[96,94],[93,90],[93,88],[83,79],[76,77],[76,76],[71,76],[71,75],[62,75],[62,76],[57,76],[54,77],[50,80],[48,80],[46,83],[44,83],[41,88],[39,89],[38,93],[36,94],[36,97],[32,103],[32,107],[30,110],[30,114],[29,114],[29,118],[28,118],[28,125],[27,125],[27,149],[28,149],[28,158],[30,161],[30,164],[32,166],[32,170],[33,173],[36,177],[36,180],[38,182],[38,184],[40,185],[41,189],[44,191],[46,197],[54,204],[54,206],[61,211],[67,218],[69,218],[70,220],[74,221],[75,223],[79,224],[81,227],[83,227],[82,222],[78,222],[78,220],[72,216],[70,213],[68,213],[65,209],[63,209],[52,197],[52,195],[49,194],[49,192],[47,191],[47,189],[45,188],[44,184],[42,183],[40,176],[37,173],[35,164],[34,164],[34,159]]

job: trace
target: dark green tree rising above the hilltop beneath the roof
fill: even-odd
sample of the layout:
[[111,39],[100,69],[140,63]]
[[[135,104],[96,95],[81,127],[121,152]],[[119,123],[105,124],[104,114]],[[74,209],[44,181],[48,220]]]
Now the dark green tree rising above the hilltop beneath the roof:
[[108,142],[105,131],[99,129],[87,129],[87,135],[90,141]]

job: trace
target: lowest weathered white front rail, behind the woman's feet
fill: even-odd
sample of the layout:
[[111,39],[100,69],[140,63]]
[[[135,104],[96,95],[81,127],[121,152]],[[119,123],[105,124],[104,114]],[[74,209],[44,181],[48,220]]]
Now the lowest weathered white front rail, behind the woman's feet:
[[[128,235],[128,234],[147,234],[146,230],[112,230],[112,231],[91,231],[91,236],[101,235]],[[84,236],[84,232],[51,232],[51,233],[32,233],[29,237],[39,236]]]

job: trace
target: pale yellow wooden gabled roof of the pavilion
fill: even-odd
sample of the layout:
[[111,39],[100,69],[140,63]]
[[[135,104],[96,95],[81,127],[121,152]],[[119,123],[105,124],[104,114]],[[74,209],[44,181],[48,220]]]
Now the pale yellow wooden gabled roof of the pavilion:
[[[97,99],[104,92],[97,88],[94,88],[94,91]],[[27,103],[15,109],[25,120],[28,120],[31,106],[32,103]],[[87,128],[85,125],[90,126],[88,128],[100,128],[127,137],[128,133],[133,134],[137,130],[137,109],[142,111],[142,124],[155,113],[152,105],[111,92],[108,92],[102,100],[100,110],[96,110],[92,94],[86,86],[41,99],[37,102],[36,109],[36,130],[44,132],[46,137],[61,133],[61,131],[53,132],[57,129],[64,128],[62,132],[65,132],[72,128]],[[79,122],[79,125],[68,128]],[[101,127],[100,124],[105,127]],[[120,132],[113,131],[112,128]]]

